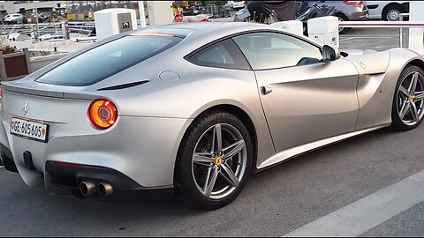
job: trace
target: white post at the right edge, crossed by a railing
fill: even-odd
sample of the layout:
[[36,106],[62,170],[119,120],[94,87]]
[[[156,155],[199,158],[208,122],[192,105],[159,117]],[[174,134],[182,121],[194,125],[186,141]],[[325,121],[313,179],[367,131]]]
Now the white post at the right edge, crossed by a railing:
[[[424,22],[424,2],[411,1],[409,22]],[[424,56],[424,28],[409,29],[409,48]]]

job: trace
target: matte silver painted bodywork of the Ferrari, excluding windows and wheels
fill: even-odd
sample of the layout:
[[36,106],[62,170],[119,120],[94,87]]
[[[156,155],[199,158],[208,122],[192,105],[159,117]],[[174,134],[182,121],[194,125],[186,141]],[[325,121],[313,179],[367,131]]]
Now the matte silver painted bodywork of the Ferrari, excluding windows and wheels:
[[[44,173],[45,162],[51,160],[110,167],[146,189],[172,187],[178,146],[187,128],[208,108],[222,105],[239,108],[250,118],[257,142],[256,168],[269,167],[390,125],[400,72],[412,60],[423,62],[413,51],[395,48],[381,53],[357,51],[330,63],[269,71],[218,69],[189,63],[183,57],[231,34],[255,31],[284,33],[319,44],[250,23],[176,24],[136,31],[178,33],[186,39],[92,86],[50,86],[34,79],[73,56],[132,32],[99,41],[27,78],[4,83],[0,143],[11,149],[28,185],[45,183],[49,192],[64,193],[49,184]],[[177,79],[176,75],[178,80],[166,80]],[[141,80],[148,83],[97,91]],[[261,87],[267,88],[263,94]],[[98,98],[110,99],[117,106],[117,123],[108,130],[96,130],[87,116],[90,103]],[[23,115],[26,101],[29,110]],[[12,116],[48,123],[49,142],[11,136]],[[24,167],[22,153],[27,150],[33,153],[37,171]]]

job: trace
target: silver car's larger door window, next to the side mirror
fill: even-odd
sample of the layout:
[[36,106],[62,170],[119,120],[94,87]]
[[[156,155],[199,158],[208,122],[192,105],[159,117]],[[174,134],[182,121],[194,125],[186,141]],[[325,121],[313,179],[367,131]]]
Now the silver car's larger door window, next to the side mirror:
[[282,33],[248,33],[233,39],[254,70],[322,62],[320,48]]

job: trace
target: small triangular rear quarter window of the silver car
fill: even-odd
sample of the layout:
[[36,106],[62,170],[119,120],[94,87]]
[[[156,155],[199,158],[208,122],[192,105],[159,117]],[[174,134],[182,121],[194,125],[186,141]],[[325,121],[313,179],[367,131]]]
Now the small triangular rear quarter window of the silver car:
[[217,42],[188,56],[187,60],[191,63],[233,70],[251,70],[246,57],[243,56],[239,47],[231,39]]

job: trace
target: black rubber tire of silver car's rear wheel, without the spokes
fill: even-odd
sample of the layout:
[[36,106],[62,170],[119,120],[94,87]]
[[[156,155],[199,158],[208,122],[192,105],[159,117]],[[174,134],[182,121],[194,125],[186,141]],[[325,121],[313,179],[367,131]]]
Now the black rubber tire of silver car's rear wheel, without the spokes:
[[[206,136],[204,135],[208,135],[208,131],[210,131],[211,128],[216,128],[217,125],[220,126],[219,128],[221,128],[221,125],[223,125],[223,126],[229,126],[233,129],[238,130],[239,135],[242,137],[242,139],[245,142],[245,147],[243,148],[242,151],[232,155],[230,157],[231,159],[224,159],[224,155],[222,155],[223,160],[227,160],[223,162],[222,167],[220,167],[221,165],[218,165],[217,163],[214,163],[214,162],[212,163],[207,162],[210,168],[208,166],[204,168],[203,167],[204,165],[202,166],[196,165],[195,163],[193,163],[193,153],[196,152],[196,150],[197,152],[199,152],[198,149],[200,146],[198,145],[201,145],[202,138],[206,138]],[[215,134],[216,130],[214,129],[213,131],[214,131],[213,133]],[[222,138],[225,138],[224,136],[225,130],[223,129],[222,131],[223,131]],[[233,145],[233,142],[231,142],[230,145]],[[207,145],[205,146],[208,147]],[[210,149],[210,151],[214,151],[213,146],[214,145],[211,145],[212,149]],[[208,148],[208,151],[209,151],[209,148]],[[222,148],[225,148],[224,143],[222,145]],[[212,155],[212,157],[213,156],[214,155]],[[227,186],[224,187],[224,189],[220,189],[218,186],[219,185],[218,180],[221,181],[221,184],[225,182],[223,177],[223,174],[224,174],[223,172],[225,171],[224,166],[231,167],[230,163],[232,164],[232,166],[234,166],[234,161],[235,161],[234,157],[239,157],[239,159],[237,159],[238,161],[236,165],[236,167],[238,168],[235,170],[236,172],[233,172],[234,173],[233,175],[236,175],[238,174],[237,171],[239,171],[239,174],[238,174],[240,178],[239,184],[237,186],[231,187],[231,185],[228,183]],[[225,205],[230,204],[236,197],[239,196],[239,193],[245,186],[246,181],[252,172],[253,157],[254,157],[254,154],[253,154],[253,148],[252,148],[252,141],[249,136],[249,132],[246,129],[246,126],[239,120],[239,118],[237,118],[235,115],[231,115],[230,113],[223,112],[223,111],[211,111],[206,113],[205,115],[201,115],[199,118],[193,121],[192,125],[186,131],[186,135],[183,138],[181,145],[179,146],[178,158],[176,162],[176,170],[175,170],[175,176],[174,176],[177,197],[180,199],[183,199],[183,201],[191,202],[192,205],[196,205],[197,207],[200,207],[202,209],[208,209],[208,210],[221,208]],[[216,157],[213,157],[213,158],[216,158]],[[246,166],[240,165],[240,158],[246,158],[246,160],[245,159],[243,160],[244,161],[243,163],[246,162]],[[212,160],[216,161],[216,159],[212,159]],[[244,169],[239,169],[239,167],[241,166],[243,166]],[[209,169],[208,171],[212,171],[213,169],[215,169],[215,167],[217,167],[216,169],[221,169],[221,170],[219,170],[219,172],[216,172],[217,179],[216,179],[216,182],[213,183],[214,185],[212,185],[212,190],[216,188],[215,186],[217,186],[218,191],[225,190],[225,188],[228,187],[229,194],[224,197],[211,198],[201,193],[201,186],[199,185],[200,179],[198,180],[198,178],[196,177],[196,175],[198,175],[199,173],[202,173],[203,170]],[[233,168],[231,168],[231,170],[234,171]],[[207,184],[209,183],[208,178],[210,179],[211,177],[214,176],[210,174],[210,172],[208,173],[209,173],[208,176],[204,175],[207,173],[201,174],[201,178],[205,178],[205,182],[203,184],[206,183],[206,185],[202,185],[204,186],[205,191],[207,188]],[[210,179],[210,181],[211,180],[212,179]]]

